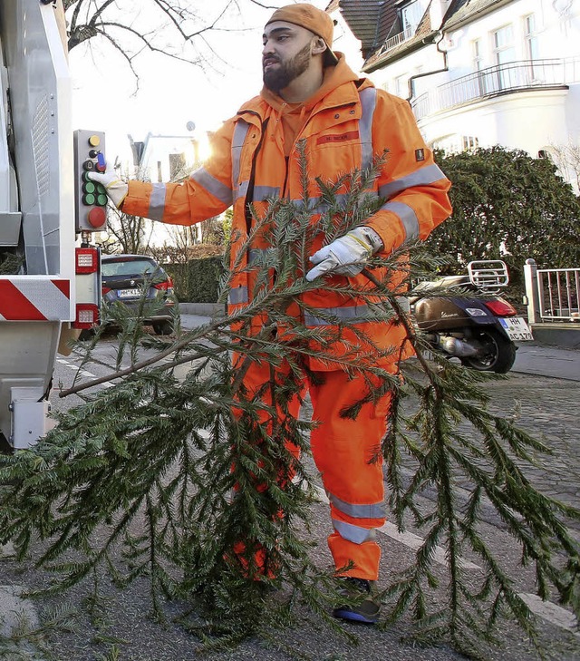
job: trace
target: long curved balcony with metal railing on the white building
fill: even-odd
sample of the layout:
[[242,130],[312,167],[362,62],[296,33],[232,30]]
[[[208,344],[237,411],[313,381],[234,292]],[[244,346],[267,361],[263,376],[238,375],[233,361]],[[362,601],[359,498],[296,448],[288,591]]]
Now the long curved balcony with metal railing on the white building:
[[561,88],[580,80],[580,57],[570,59],[524,60],[496,64],[456,78],[411,101],[420,120],[436,112],[523,90]]

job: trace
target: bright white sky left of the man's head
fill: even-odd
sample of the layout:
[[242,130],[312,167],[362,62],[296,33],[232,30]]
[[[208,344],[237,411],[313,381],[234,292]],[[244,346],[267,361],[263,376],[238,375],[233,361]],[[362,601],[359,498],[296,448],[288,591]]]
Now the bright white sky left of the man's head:
[[[232,15],[229,25],[243,30],[208,34],[223,62],[215,60],[205,71],[162,54],[140,53],[135,60],[138,91],[129,66],[105,42],[90,40],[73,48],[73,127],[105,131],[108,160],[119,156],[121,161],[130,158],[128,134],[135,141],[144,140],[149,132],[188,135],[188,122],[196,125],[192,137],[216,130],[262,87],[264,24],[275,7],[288,0],[266,0],[264,4],[272,6],[262,8],[241,0],[244,14]],[[328,0],[312,0],[312,4],[324,9]],[[207,0],[198,5],[204,13],[210,11]],[[140,4],[144,6],[145,0]],[[152,27],[156,19],[141,14],[139,20],[141,26]]]

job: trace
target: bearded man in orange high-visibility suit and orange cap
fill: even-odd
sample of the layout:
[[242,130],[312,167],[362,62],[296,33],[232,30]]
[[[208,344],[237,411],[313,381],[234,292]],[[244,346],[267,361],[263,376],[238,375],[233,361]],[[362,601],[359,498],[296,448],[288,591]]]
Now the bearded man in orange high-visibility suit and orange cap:
[[[320,237],[311,257],[313,267],[305,274],[310,281],[320,278],[320,289],[304,294],[304,303],[314,312],[300,321],[325,326],[328,311],[344,318],[376,345],[375,364],[396,374],[399,352],[385,355],[382,349],[403,345],[401,326],[388,326],[385,332],[384,322],[364,319],[366,301],[331,292],[324,281],[340,283],[348,277],[364,287],[361,271],[368,258],[389,255],[406,240],[426,238],[449,216],[449,180],[422,140],[409,103],[375,89],[353,73],[343,53],[333,53],[333,22],[324,11],[307,4],[277,9],[266,24],[263,41],[264,88],[224,123],[213,140],[211,159],[189,180],[127,184],[109,172],[93,173],[92,178],[102,182],[124,212],[164,223],[190,225],[233,205],[234,258],[250,230],[249,203],[259,214],[267,199],[302,199],[297,141],[305,141],[309,170],[323,180],[369,167],[377,154],[388,150],[374,182],[374,191],[385,203],[364,227],[328,245]],[[311,186],[315,198],[319,192],[314,177]],[[265,248],[267,238],[256,238],[250,253]],[[247,272],[237,275],[229,293],[231,311],[247,305],[251,285]],[[257,319],[256,329],[259,325]],[[347,327],[344,335],[348,333]],[[346,337],[356,342],[355,338]],[[336,352],[341,351],[339,344]],[[355,421],[344,419],[341,410],[360,401],[367,388],[362,377],[351,378],[315,357],[309,369],[317,374],[316,383],[308,384],[313,418],[319,423],[311,444],[330,500],[333,533],[328,544],[344,594],[360,595],[356,606],[335,608],[333,614],[372,623],[380,611],[374,583],[381,550],[374,530],[385,520],[382,465],[373,459],[386,433],[389,395],[379,403],[365,403]],[[284,379],[284,373],[282,366],[277,378]],[[245,376],[248,396],[269,376],[268,365],[252,364]]]

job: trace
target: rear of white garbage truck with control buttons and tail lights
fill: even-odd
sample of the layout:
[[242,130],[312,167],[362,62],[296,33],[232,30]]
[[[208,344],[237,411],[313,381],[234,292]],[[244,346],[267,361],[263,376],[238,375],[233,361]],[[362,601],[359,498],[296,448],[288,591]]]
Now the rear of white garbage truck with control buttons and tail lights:
[[[104,135],[73,131],[60,0],[0,0],[0,446],[47,430],[57,354],[98,322]],[[63,38],[64,37],[64,38]]]

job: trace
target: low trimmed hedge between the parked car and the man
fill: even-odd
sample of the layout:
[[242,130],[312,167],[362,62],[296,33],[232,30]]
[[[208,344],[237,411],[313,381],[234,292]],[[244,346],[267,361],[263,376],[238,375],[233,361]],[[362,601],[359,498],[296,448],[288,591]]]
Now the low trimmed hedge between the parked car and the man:
[[187,264],[164,264],[173,278],[180,303],[217,303],[219,279],[224,272],[223,258],[190,259]]

